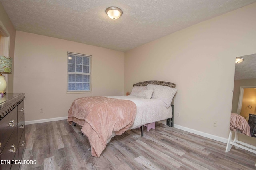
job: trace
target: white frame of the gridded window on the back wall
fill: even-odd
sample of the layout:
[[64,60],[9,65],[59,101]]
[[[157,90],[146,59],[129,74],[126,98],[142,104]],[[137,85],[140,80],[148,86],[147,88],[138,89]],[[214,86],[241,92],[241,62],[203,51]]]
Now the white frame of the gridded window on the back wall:
[[[89,58],[89,73],[83,73],[83,72],[68,72],[68,68],[70,66],[69,62],[69,55],[75,55],[75,56],[80,56],[80,57],[88,57]],[[69,74],[82,74],[82,75],[89,75],[89,88],[90,90],[68,90],[68,85],[69,85]],[[67,53],[67,93],[91,93],[92,92],[92,55],[84,55],[84,54],[79,54],[79,53],[72,53],[68,52]]]

